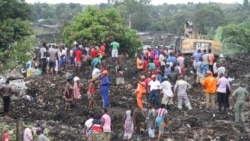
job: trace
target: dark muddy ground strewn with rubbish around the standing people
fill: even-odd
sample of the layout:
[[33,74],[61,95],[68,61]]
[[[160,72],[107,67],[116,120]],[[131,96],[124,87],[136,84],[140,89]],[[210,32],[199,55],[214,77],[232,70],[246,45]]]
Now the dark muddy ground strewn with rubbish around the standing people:
[[[235,78],[234,83],[244,81],[250,84],[250,61],[247,56],[236,56],[227,58],[229,75]],[[126,69],[124,86],[115,86],[113,60],[107,59],[109,67],[110,86],[110,107],[109,114],[112,117],[112,141],[122,141],[123,116],[125,107],[133,105],[137,108],[133,95],[136,87],[134,60],[121,59],[122,66]],[[69,71],[72,72],[72,71]],[[12,97],[11,114],[14,119],[29,121],[33,125],[40,123],[48,129],[48,135],[53,141],[81,141],[82,125],[87,119],[88,113],[100,112],[102,101],[97,91],[96,100],[98,108],[87,109],[87,81],[91,77],[91,69],[84,67],[81,74],[82,100],[78,105],[73,106],[72,111],[65,111],[63,99],[64,85],[66,83],[65,73],[58,75],[37,76],[27,79],[27,95]],[[193,76],[188,76],[189,82],[193,83]],[[249,141],[248,132],[250,112],[249,104],[246,108],[246,124],[234,123],[233,109],[227,113],[207,111],[205,108],[205,97],[201,87],[193,87],[189,91],[189,98],[194,108],[188,112],[186,109],[178,111],[174,107],[169,111],[169,121],[166,133],[162,140],[166,141]],[[230,99],[232,108],[232,100]],[[176,103],[176,102],[175,102]],[[143,113],[136,112],[137,128],[133,136],[134,141],[147,141],[147,132],[143,128],[145,117]]]

